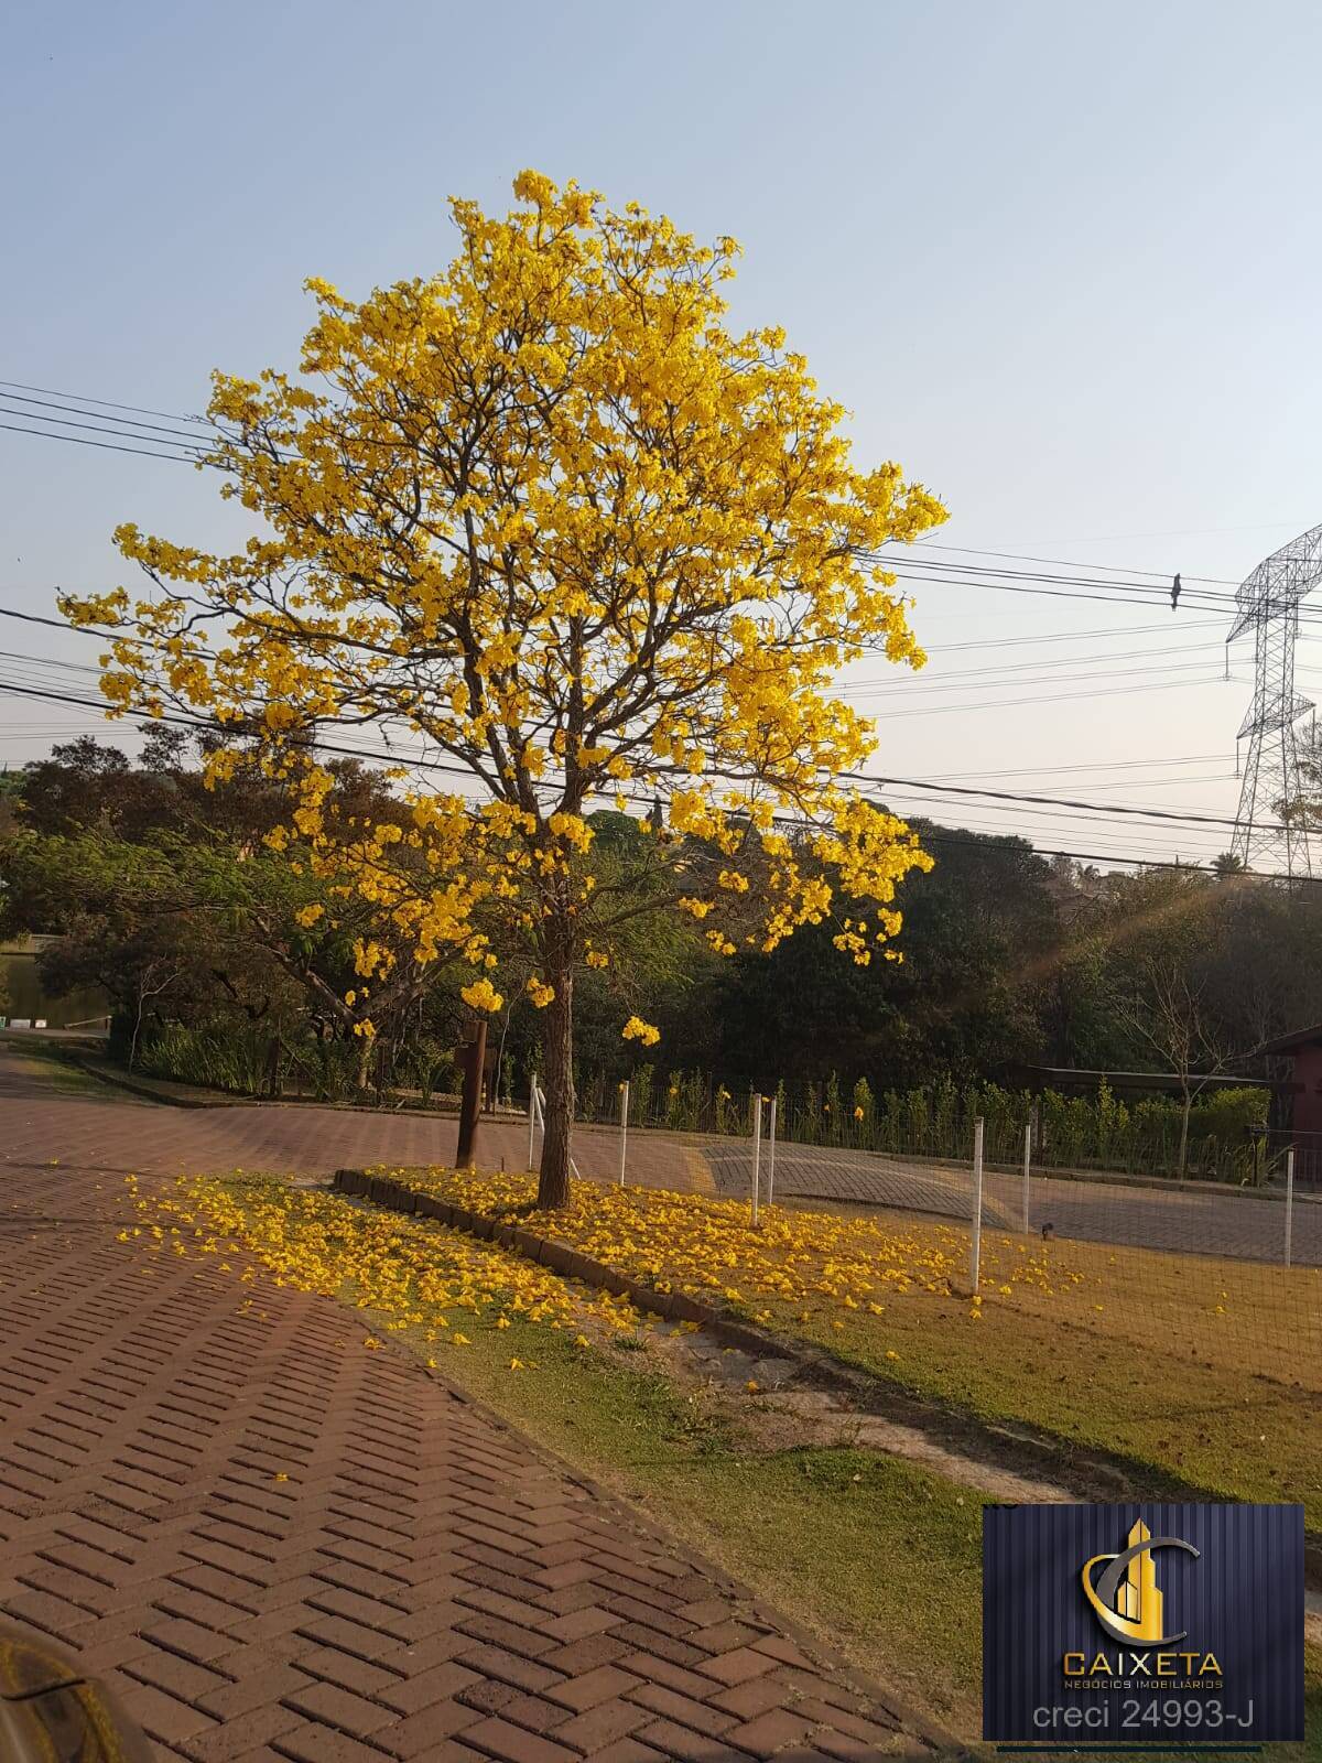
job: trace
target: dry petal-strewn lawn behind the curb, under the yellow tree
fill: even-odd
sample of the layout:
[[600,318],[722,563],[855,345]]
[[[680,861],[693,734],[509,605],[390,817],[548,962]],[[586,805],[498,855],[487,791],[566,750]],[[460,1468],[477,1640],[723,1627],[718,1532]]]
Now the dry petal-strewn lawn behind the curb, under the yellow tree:
[[[400,1174],[490,1211],[531,1194],[524,1176]],[[728,1204],[580,1183],[569,1211],[520,1222],[885,1386],[1024,1423],[1063,1460],[1118,1458],[1135,1493],[1299,1500],[1322,1536],[1322,1269],[987,1229],[975,1306],[952,1291],[968,1232],[948,1222],[811,1202],[769,1216],[753,1232]],[[895,1266],[913,1278],[887,1282]]]

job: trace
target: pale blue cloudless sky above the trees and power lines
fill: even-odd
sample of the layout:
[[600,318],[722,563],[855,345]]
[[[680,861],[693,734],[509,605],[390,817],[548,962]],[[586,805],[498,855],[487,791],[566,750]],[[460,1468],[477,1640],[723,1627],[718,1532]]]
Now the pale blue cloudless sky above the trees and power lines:
[[[1322,520],[1308,0],[11,0],[2,28],[0,379],[197,411],[212,367],[293,365],[305,275],[360,293],[437,270],[446,196],[502,208],[538,166],[733,233],[735,321],[784,324],[853,411],[860,460],[899,458],[947,499],[952,545],[1239,580]],[[234,532],[210,474],[180,465],[4,430],[0,465],[0,605],[125,580],[123,518],[194,543]],[[932,668],[869,707],[943,709],[883,721],[876,769],[1033,785],[1031,767],[1079,767],[1036,781],[1234,811],[1246,686],[1211,684],[1207,614],[941,587],[915,622]],[[1114,635],[941,654],[1068,629]],[[93,645],[0,621],[0,649],[86,663]],[[1070,679],[1167,649],[1165,686]],[[1043,656],[1130,651],[1042,682]],[[1320,642],[1304,689],[1313,658]],[[1033,684],[924,698],[992,663]],[[973,698],[1006,707],[957,709]],[[92,721],[0,695],[0,760]],[[1199,755],[1216,758],[1181,763]],[[1082,769],[1130,760],[1170,763]],[[1040,830],[1163,855],[1229,843]]]

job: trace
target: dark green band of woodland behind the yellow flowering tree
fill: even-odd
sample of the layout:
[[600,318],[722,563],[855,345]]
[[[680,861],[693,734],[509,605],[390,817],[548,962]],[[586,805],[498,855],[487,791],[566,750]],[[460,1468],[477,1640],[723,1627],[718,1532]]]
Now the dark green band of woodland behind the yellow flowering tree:
[[[448,1088],[458,1026],[471,1014],[464,959],[414,961],[412,936],[382,920],[349,876],[314,866],[301,839],[271,848],[266,836],[286,829],[291,802],[270,779],[240,770],[208,792],[190,748],[150,742],[139,762],[99,751],[72,742],[0,774],[12,809],[9,834],[0,832],[0,929],[5,938],[56,936],[37,964],[48,998],[95,987],[78,1014],[109,1003],[111,1053],[120,1056],[141,1001],[137,1061],[183,1082],[247,1095],[280,1093],[286,1082],[337,1098],[358,1090],[393,1105]],[[379,776],[349,760],[328,769],[323,820],[344,829],[393,815],[404,832],[402,804]],[[862,1082],[899,1151],[922,1141],[906,1135],[910,1107],[931,1118],[940,1098],[945,1109],[961,1095],[964,1112],[985,1107],[999,1118],[1026,1105],[1005,1088],[1017,1086],[1021,1061],[1169,1075],[1169,1049],[1133,1019],[1142,991],[1133,964],[1139,943],[1162,933],[1183,897],[1206,915],[1188,948],[1190,971],[1204,1014],[1234,1053],[1227,1072],[1280,1075],[1253,1049],[1322,1017],[1317,885],[1188,869],[1100,874],[1043,862],[1022,841],[920,825],[943,862],[897,889],[902,964],[841,963],[832,919],[806,924],[770,956],[723,959],[703,920],[650,910],[647,897],[649,889],[665,896],[675,876],[693,885],[710,866],[719,876],[716,848],[613,809],[592,811],[587,827],[599,887],[647,908],[620,920],[605,964],[583,963],[576,977],[575,1065],[598,1118],[629,1075],[643,1114],[652,1100],[694,1127],[703,1109],[719,1112],[721,1090],[770,1091],[784,1079],[783,1130],[795,1107],[807,1107],[809,1090],[825,1104],[832,1088],[844,1097]],[[673,874],[657,862],[657,846]],[[361,938],[384,940],[390,984],[363,982]],[[39,1014],[32,957],[9,959],[19,975],[14,1008]],[[162,961],[171,984],[139,993],[141,978],[160,977]],[[620,1038],[626,1017],[663,1030],[656,1054]],[[504,1056],[502,1093],[545,1068],[543,1023],[532,996],[511,989],[492,1037]],[[1199,1072],[1206,1065],[1192,1077]],[[1237,1167],[1234,1155],[1218,1160],[1243,1148],[1236,1109],[1220,1090],[1193,1098],[1190,1164],[1197,1153],[1200,1167]],[[1181,1104],[1174,1120],[1167,1105],[1142,1104],[1142,1112],[1151,1141],[1135,1153],[1142,1167],[1144,1158],[1165,1167],[1167,1134],[1174,1167]]]

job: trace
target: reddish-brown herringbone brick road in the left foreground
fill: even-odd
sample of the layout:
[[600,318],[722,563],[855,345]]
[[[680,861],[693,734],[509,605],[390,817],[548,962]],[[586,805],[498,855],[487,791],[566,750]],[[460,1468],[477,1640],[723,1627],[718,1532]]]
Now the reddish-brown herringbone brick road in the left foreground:
[[2,1053],[0,1084],[0,1606],[104,1673],[162,1758],[929,1751],[361,1317],[120,1241],[116,1171],[169,1157],[134,1137],[208,1116],[58,1097]]

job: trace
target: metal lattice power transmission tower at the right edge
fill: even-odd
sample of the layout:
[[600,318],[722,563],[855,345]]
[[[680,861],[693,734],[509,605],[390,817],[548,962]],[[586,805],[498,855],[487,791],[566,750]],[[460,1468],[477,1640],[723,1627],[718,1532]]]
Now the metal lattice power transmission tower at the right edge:
[[1281,804],[1299,799],[1299,746],[1294,725],[1311,710],[1294,689],[1294,643],[1299,601],[1322,580],[1322,527],[1281,545],[1244,578],[1236,592],[1232,643],[1253,629],[1253,703],[1239,725],[1248,737],[1244,781],[1239,790],[1234,852],[1246,869],[1283,869],[1311,876],[1308,832],[1290,825]]

